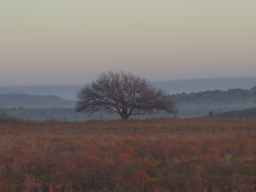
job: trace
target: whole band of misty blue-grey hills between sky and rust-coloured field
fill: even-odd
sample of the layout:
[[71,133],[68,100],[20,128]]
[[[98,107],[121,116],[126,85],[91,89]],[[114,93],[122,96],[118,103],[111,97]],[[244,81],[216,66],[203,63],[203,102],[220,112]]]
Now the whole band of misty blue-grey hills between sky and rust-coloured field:
[[[256,78],[204,78],[151,82],[156,88],[163,88],[176,104],[178,118],[191,118],[221,114],[232,110],[244,110],[256,106]],[[22,119],[44,121],[49,118],[68,121],[89,119],[118,119],[117,114],[97,112],[75,113],[76,93],[85,85],[62,86],[0,86],[0,107],[8,108],[11,116]],[[14,94],[15,93],[15,94]],[[160,116],[173,116],[164,113]],[[234,115],[235,116],[235,115]],[[243,115],[239,115],[243,116]],[[255,116],[255,115],[254,115]],[[152,118],[152,116],[132,116]]]

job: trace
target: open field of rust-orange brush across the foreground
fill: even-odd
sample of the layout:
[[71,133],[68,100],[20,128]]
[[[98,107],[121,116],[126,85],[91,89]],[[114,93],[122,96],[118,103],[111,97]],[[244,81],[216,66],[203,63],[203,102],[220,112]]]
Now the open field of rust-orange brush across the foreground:
[[254,192],[256,120],[0,124],[1,192]]

